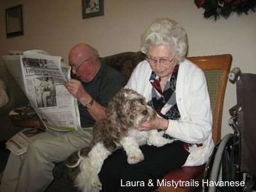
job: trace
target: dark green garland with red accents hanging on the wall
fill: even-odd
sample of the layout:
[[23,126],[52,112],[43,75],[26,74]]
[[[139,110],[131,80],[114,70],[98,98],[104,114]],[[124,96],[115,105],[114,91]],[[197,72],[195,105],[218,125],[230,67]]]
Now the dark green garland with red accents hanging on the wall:
[[236,13],[238,16],[256,12],[256,0],[195,0],[197,8],[204,8],[204,18],[214,21],[223,17],[228,19]]

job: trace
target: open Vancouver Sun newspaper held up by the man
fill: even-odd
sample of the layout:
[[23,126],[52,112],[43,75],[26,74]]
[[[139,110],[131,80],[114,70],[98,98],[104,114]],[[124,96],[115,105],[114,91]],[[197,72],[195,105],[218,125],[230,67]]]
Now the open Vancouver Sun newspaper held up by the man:
[[60,56],[35,50],[3,56],[3,60],[47,129],[81,130],[77,99],[64,86],[71,67]]

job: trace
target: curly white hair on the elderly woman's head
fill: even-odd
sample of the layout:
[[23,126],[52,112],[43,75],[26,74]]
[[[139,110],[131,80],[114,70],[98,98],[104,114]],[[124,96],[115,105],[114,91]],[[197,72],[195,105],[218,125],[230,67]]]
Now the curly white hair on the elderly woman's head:
[[187,33],[175,20],[168,18],[154,20],[141,35],[141,52],[147,54],[149,45],[160,44],[172,45],[180,60],[188,52]]

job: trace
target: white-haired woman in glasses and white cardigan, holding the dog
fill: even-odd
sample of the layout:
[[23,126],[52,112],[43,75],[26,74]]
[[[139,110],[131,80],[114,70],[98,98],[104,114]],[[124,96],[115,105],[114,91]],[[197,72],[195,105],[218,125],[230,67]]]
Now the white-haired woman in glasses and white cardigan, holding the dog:
[[141,35],[144,61],[134,69],[126,88],[145,96],[157,112],[141,131],[164,130],[173,143],[144,145],[145,159],[128,164],[123,149],[104,161],[99,173],[102,191],[150,191],[170,170],[204,164],[213,147],[212,113],[204,72],[184,57],[186,31],[170,19],[157,19]]

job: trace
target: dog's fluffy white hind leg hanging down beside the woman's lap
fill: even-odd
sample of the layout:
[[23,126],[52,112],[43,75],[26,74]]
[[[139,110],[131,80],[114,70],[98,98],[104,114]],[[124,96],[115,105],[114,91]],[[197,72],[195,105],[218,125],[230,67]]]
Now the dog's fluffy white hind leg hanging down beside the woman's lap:
[[104,160],[111,154],[102,143],[97,143],[88,153],[88,157],[82,157],[80,172],[76,177],[75,184],[83,192],[96,192],[102,188],[98,173]]

